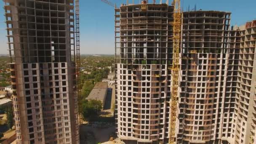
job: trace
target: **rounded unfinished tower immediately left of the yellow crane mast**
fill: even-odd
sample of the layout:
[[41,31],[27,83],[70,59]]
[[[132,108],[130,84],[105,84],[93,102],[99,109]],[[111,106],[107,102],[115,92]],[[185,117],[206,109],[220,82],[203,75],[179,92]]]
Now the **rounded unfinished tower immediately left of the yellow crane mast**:
[[115,9],[117,136],[130,143],[168,141],[173,7]]

